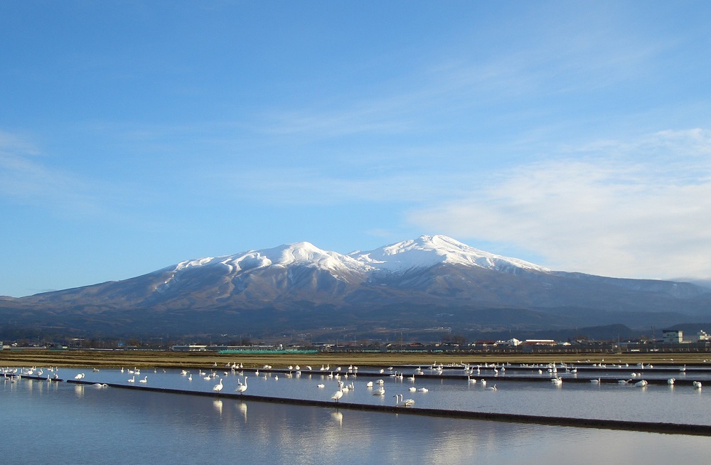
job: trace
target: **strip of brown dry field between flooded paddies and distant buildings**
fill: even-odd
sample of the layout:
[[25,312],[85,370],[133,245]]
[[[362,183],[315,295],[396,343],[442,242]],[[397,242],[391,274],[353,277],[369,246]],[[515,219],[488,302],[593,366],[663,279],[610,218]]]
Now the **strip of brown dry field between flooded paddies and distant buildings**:
[[[673,362],[672,362],[673,360]],[[422,365],[432,363],[710,363],[711,353],[567,353],[567,354],[471,354],[471,353],[181,353],[170,351],[40,351],[5,349],[0,366],[60,367],[164,367],[198,368],[213,364],[242,363],[245,368],[272,365]]]

